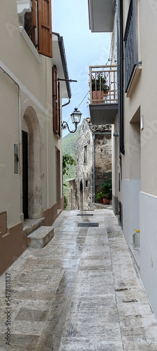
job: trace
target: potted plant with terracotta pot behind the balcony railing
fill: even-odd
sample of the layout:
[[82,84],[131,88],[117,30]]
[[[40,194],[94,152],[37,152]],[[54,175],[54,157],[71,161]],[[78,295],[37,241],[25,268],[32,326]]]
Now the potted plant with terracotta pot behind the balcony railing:
[[103,102],[103,96],[110,91],[110,86],[107,85],[107,78],[105,72],[97,73],[91,77],[92,99],[94,103]]

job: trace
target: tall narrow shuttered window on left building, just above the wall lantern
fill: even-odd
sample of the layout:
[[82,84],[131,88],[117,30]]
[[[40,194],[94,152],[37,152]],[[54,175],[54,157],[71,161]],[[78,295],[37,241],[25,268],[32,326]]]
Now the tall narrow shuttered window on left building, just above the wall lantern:
[[61,137],[61,113],[60,113],[60,83],[57,81],[57,68],[52,67],[52,106],[53,106],[53,131]]

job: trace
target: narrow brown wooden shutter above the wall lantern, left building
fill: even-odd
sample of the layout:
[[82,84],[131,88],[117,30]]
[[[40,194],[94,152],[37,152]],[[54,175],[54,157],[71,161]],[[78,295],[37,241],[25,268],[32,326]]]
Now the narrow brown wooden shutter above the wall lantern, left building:
[[52,105],[53,105],[53,130],[59,133],[58,126],[58,94],[57,94],[57,69],[52,67]]

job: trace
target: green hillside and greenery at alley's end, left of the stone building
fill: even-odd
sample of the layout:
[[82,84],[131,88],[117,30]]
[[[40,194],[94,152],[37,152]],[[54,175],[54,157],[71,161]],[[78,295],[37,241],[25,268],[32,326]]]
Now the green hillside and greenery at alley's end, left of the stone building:
[[[80,131],[79,126],[75,133],[69,133],[63,137],[63,154],[70,154],[73,159],[75,159],[75,143],[78,137],[78,133]],[[63,195],[66,197],[68,202],[69,191],[68,191],[68,182],[67,179],[75,178],[75,166],[68,166],[68,176],[63,176]],[[68,206],[66,208],[69,208]]]

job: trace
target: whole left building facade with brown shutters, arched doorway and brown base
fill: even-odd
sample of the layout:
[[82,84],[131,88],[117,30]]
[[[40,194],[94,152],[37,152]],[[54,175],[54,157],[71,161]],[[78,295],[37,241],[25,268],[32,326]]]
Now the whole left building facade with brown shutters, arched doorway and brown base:
[[57,80],[68,71],[51,5],[1,1],[0,272],[27,248],[27,221],[50,226],[63,208],[61,98],[71,93]]

